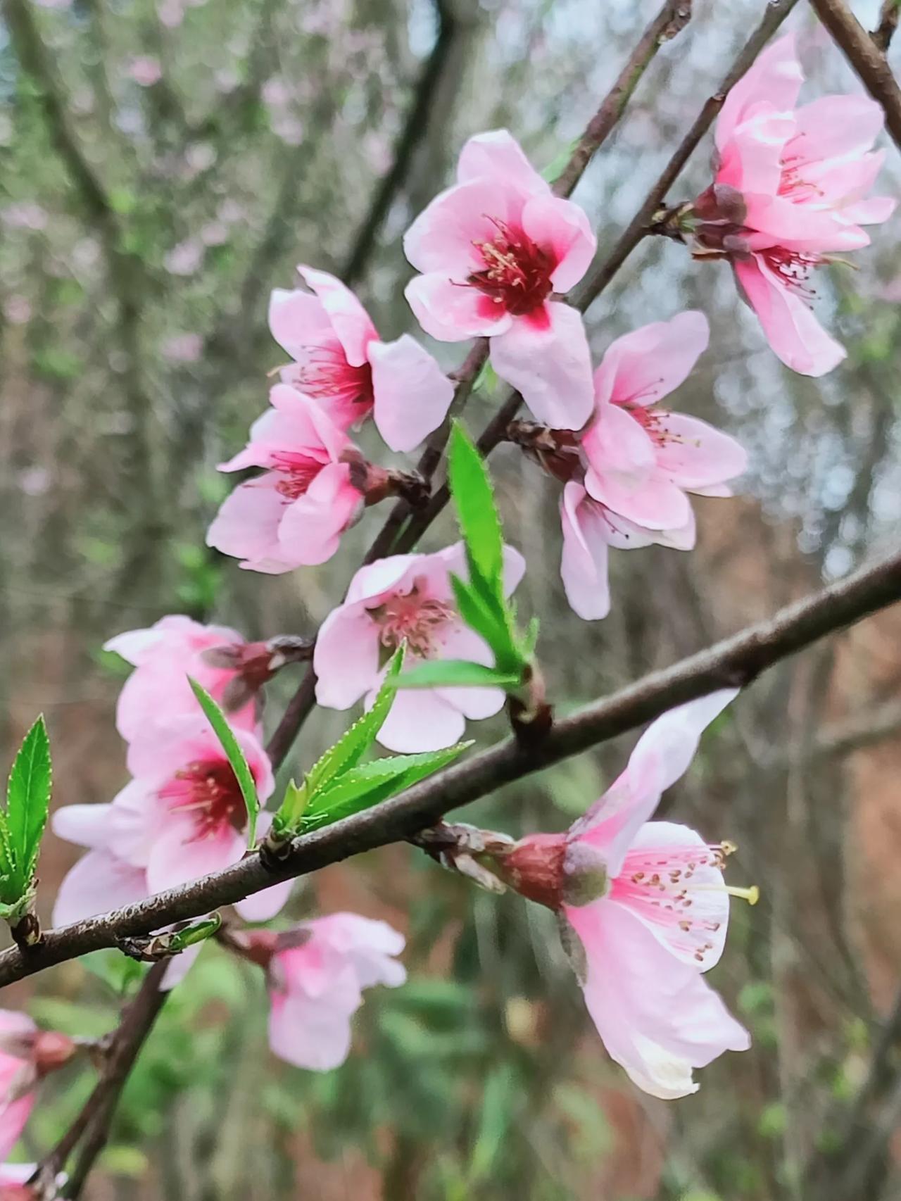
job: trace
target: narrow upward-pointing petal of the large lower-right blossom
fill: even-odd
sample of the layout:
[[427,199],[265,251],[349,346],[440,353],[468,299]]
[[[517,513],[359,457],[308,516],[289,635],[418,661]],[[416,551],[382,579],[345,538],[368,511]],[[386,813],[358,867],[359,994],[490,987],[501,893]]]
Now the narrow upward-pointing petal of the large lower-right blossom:
[[722,688],[651,722],[622,775],[569,827],[571,841],[585,839],[603,852],[610,879],[619,876],[626,852],[662,794],[688,770],[703,731],[738,694],[738,688]]

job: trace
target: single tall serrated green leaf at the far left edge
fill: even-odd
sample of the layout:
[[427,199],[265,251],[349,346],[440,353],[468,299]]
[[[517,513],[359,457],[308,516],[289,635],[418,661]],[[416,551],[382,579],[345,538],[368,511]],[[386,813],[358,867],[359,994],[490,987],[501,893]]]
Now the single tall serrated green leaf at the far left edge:
[[[6,785],[2,858],[10,862],[18,894],[31,883],[50,808],[50,742],[43,716],[25,735]],[[6,874],[6,873],[5,873]],[[7,898],[10,901],[16,897]]]

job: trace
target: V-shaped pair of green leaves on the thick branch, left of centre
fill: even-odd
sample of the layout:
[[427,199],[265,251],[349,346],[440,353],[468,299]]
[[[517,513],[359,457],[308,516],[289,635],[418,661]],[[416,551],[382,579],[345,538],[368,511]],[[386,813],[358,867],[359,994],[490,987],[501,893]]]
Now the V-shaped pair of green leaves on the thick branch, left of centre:
[[369,712],[326,751],[300,785],[293,781],[288,783],[273,823],[276,837],[318,830],[340,818],[368,809],[431,776],[471,746],[469,742],[459,742],[443,751],[386,755],[369,763],[360,761],[388,716],[402,667],[401,646],[388,664]]

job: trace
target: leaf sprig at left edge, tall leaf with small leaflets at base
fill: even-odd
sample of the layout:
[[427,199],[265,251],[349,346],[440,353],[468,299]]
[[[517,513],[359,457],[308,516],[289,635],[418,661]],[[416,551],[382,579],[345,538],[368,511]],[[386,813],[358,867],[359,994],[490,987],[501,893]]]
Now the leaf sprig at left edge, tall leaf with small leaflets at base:
[[50,807],[53,769],[43,715],[25,735],[0,809],[0,916],[14,924],[34,900],[34,876]]

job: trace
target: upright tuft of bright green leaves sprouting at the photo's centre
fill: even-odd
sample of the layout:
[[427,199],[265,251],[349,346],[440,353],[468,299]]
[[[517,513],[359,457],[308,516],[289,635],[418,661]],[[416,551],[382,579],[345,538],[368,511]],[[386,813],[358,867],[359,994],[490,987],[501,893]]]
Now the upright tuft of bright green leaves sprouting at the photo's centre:
[[491,479],[482,455],[458,423],[450,431],[448,460],[450,494],[466,546],[469,581],[450,576],[454,599],[466,625],[491,649],[494,667],[459,661],[420,663],[406,671],[399,688],[497,687],[519,688],[529,670],[538,625],[523,635],[517,611],[503,588],[503,531]]

